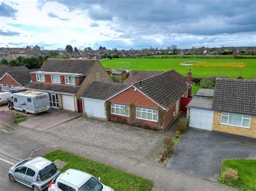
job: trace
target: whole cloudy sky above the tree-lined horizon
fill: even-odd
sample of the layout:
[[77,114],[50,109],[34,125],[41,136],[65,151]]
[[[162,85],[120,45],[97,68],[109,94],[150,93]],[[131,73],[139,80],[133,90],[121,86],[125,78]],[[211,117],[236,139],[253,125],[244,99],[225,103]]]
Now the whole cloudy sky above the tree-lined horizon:
[[0,47],[256,46],[255,0],[0,0]]

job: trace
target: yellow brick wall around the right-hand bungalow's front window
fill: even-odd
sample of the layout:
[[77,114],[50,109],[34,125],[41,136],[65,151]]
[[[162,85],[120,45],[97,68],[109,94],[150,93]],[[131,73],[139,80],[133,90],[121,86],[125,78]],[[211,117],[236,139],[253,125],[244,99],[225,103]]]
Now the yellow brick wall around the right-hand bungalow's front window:
[[256,138],[256,117],[251,117],[250,129],[239,128],[237,126],[222,125],[220,124],[221,112],[214,111],[213,116],[213,131],[219,131],[224,133],[230,133],[239,136]]

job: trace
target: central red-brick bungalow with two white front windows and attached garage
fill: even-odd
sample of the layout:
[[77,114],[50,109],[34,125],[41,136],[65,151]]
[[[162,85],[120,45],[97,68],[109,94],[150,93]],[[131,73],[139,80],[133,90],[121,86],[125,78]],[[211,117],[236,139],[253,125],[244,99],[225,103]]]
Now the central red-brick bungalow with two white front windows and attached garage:
[[[178,115],[181,99],[191,95],[192,85],[191,72],[184,77],[170,70],[133,84],[93,83],[82,96],[85,110],[86,105],[90,108],[102,102],[99,110],[103,113],[105,104],[102,116],[110,121],[165,130]],[[87,104],[86,99],[92,102]],[[93,115],[98,112],[94,111]]]

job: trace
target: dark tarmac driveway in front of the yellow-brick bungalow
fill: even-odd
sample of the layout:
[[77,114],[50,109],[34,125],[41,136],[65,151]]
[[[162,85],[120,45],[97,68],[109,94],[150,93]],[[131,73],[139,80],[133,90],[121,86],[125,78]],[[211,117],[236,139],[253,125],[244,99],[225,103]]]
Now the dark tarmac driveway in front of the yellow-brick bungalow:
[[232,158],[256,159],[256,139],[190,128],[167,167],[217,181],[221,161]]

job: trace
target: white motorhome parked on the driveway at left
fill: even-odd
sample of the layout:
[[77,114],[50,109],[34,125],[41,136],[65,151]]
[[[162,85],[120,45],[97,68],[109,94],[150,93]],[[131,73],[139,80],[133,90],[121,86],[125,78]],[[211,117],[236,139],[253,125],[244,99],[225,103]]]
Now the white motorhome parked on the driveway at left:
[[50,109],[48,93],[42,91],[22,91],[11,95],[9,109],[38,114]]

